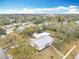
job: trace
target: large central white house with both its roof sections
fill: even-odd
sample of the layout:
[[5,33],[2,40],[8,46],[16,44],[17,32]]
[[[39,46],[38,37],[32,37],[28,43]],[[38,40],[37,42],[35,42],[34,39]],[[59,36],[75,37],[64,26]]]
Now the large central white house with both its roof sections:
[[53,38],[51,38],[50,33],[47,32],[43,32],[40,34],[33,34],[33,36],[35,37],[34,39],[30,39],[31,41],[31,46],[35,47],[37,50],[42,50],[45,47],[51,45],[54,41]]

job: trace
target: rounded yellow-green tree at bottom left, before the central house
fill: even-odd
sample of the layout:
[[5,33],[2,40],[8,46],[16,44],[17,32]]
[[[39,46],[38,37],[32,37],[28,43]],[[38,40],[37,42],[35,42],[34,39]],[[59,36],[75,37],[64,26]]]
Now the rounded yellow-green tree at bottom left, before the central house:
[[35,52],[36,50],[29,45],[20,45],[17,48],[10,49],[7,53],[12,55],[13,59],[33,59]]

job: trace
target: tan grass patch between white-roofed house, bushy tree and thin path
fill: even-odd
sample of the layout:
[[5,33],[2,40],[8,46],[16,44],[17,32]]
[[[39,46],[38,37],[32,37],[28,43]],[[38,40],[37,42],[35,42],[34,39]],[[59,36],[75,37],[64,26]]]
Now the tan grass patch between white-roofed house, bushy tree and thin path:
[[52,47],[47,47],[41,52],[35,53],[35,59],[61,59]]

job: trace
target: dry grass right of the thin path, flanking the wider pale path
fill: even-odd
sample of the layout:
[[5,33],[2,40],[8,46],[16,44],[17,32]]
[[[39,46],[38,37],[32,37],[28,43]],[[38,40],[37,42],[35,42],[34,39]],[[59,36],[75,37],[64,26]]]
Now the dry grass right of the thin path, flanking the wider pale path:
[[62,44],[63,44],[62,48],[59,51],[61,53],[63,53],[64,55],[73,47],[73,45],[75,45],[75,44],[77,45],[77,47],[67,57],[67,59],[74,59],[74,57],[76,56],[76,54],[79,52],[79,48],[78,48],[79,47],[79,41],[72,41],[70,43],[64,42]]

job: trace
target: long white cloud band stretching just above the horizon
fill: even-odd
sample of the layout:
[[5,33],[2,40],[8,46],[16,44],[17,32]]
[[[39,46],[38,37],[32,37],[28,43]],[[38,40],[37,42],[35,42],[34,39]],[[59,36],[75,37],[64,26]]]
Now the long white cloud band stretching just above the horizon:
[[0,10],[0,14],[79,14],[78,6],[58,6],[52,8],[23,8],[16,10]]

